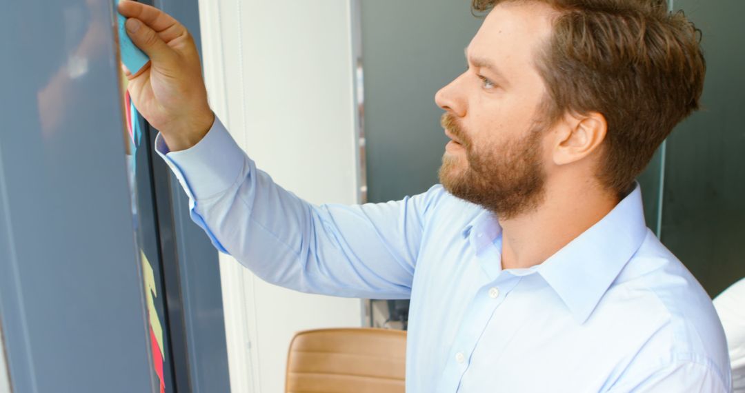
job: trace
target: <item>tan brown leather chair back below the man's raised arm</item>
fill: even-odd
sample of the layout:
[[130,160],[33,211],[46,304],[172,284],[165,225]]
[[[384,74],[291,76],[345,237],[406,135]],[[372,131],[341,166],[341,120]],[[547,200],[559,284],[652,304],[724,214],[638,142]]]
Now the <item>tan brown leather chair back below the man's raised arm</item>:
[[349,328],[299,332],[287,361],[287,393],[405,391],[406,332]]

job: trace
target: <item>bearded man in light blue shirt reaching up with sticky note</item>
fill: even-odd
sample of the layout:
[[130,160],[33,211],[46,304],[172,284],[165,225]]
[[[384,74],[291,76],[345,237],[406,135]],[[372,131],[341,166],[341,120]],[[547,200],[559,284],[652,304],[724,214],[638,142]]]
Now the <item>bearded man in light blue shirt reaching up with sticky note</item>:
[[473,6],[469,68],[435,98],[442,185],[399,202],[279,188],[212,115],[186,30],[124,2],[152,59],[129,89],[218,249],[295,290],[410,297],[408,392],[729,392],[711,300],[634,181],[697,109],[697,32],[662,0]]

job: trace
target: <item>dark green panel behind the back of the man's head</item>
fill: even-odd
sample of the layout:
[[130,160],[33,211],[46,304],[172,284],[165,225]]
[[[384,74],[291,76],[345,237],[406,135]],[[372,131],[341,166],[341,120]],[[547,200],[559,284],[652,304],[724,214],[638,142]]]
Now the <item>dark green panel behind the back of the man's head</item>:
[[676,0],[703,31],[703,109],[668,138],[662,240],[710,295],[745,276],[745,2]]

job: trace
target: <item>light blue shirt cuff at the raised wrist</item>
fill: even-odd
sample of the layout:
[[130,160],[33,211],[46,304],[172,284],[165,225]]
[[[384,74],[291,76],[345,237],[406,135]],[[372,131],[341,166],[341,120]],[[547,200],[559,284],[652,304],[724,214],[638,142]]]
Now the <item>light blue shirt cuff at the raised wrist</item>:
[[215,116],[199,143],[171,152],[158,132],[155,150],[176,175],[190,199],[209,199],[226,191],[243,170],[245,153]]

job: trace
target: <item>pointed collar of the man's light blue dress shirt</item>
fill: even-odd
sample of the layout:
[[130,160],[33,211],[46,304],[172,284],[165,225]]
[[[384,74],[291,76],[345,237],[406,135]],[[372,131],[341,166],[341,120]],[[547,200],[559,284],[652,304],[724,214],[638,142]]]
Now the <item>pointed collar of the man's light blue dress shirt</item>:
[[[463,237],[469,237],[473,230],[480,230],[482,226],[488,229],[486,241],[492,242],[501,235],[497,220],[484,211],[466,225]],[[574,319],[581,324],[595,310],[600,298],[646,236],[641,189],[636,183],[633,191],[602,220],[551,255],[537,267],[536,272],[554,289]],[[477,253],[484,247],[479,241],[472,241],[472,245]]]

